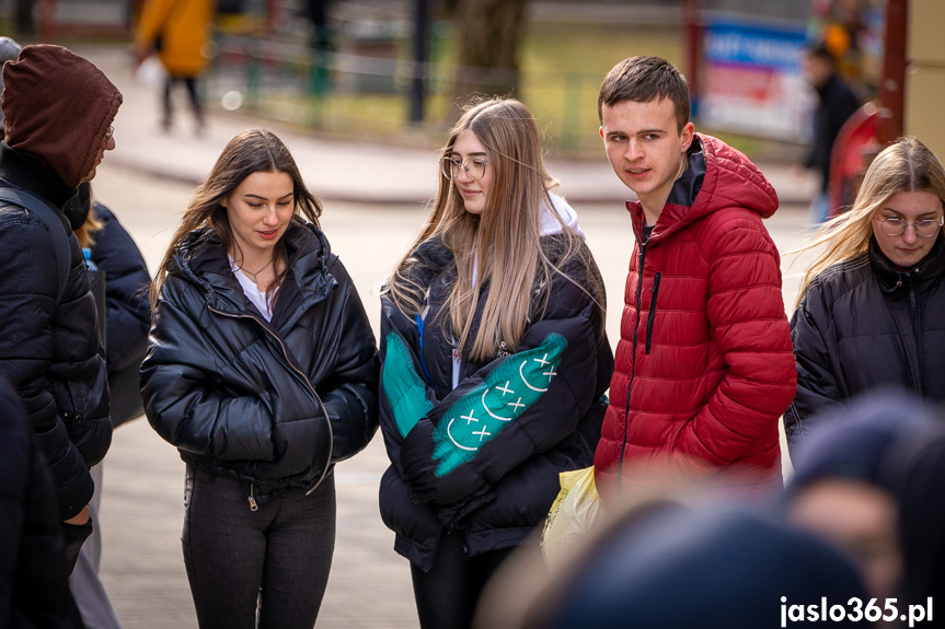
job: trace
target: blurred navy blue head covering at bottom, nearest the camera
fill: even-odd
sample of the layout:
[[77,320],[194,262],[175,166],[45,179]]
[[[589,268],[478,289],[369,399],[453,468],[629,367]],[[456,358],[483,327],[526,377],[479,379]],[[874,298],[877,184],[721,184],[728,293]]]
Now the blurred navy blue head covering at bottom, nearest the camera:
[[780,627],[792,605],[806,613],[823,596],[845,604],[865,589],[853,564],[820,538],[748,510],[656,501],[627,512],[566,570],[526,593],[525,609],[511,614],[518,617],[489,621],[522,629]]

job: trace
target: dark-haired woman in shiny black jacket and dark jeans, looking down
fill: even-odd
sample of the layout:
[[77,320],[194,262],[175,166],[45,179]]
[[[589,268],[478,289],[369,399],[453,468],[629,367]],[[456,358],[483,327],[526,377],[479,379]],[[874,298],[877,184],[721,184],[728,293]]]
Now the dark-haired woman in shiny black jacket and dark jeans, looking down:
[[377,430],[374,336],[321,211],[285,144],[244,131],[195,191],[151,288],[141,387],[187,464],[184,563],[201,629],[314,626],[333,466]]

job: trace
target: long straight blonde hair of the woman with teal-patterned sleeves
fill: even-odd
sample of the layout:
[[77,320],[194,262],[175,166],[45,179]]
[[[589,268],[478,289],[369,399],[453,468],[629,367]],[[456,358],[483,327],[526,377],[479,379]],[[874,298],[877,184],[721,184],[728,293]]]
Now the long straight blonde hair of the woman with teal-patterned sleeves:
[[[450,131],[442,151],[448,156],[457,138],[472,131],[487,153],[492,185],[482,214],[465,211],[453,182],[439,175],[437,196],[419,235],[408,253],[396,265],[384,291],[408,316],[424,307],[427,287],[411,278],[420,263],[414,252],[424,242],[439,236],[452,252],[457,280],[451,287],[445,311],[457,347],[469,356],[484,360],[495,356],[503,342],[511,350],[525,334],[529,316],[546,305],[552,276],[574,256],[585,256],[579,236],[564,228],[561,256],[552,261],[540,243],[540,219],[543,205],[552,207],[549,189],[557,180],[545,170],[541,133],[528,108],[515,98],[494,97],[470,106]],[[561,217],[552,210],[558,221]],[[584,258],[586,268],[592,261]],[[593,282],[596,273],[588,272]],[[482,321],[474,339],[470,339],[482,288],[489,291]],[[545,290],[533,301],[534,287]],[[598,287],[595,287],[596,289]],[[602,289],[593,299],[603,300]]]

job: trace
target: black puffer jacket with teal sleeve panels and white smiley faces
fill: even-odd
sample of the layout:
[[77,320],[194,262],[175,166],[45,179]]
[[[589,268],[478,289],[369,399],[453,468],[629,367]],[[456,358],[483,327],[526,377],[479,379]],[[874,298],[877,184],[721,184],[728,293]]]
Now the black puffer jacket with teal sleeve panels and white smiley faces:
[[[543,238],[552,259],[557,237]],[[429,288],[423,327],[381,298],[381,429],[392,464],[380,509],[394,549],[428,570],[446,528],[463,529],[474,556],[517,546],[544,521],[558,473],[593,462],[613,354],[575,260],[564,270],[583,287],[555,276],[546,311],[519,346],[485,362],[463,357],[452,388],[441,308],[456,264],[439,240],[415,256],[423,269],[414,279]],[[471,336],[477,325],[479,317]]]

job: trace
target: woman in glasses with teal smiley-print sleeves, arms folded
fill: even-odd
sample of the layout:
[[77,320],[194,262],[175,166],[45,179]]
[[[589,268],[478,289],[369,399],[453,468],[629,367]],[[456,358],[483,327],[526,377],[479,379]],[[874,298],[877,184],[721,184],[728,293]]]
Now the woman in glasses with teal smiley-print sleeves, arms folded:
[[509,554],[539,552],[558,473],[591,465],[613,366],[603,283],[528,108],[472,104],[439,167],[381,295],[381,516],[424,629],[469,627]]

